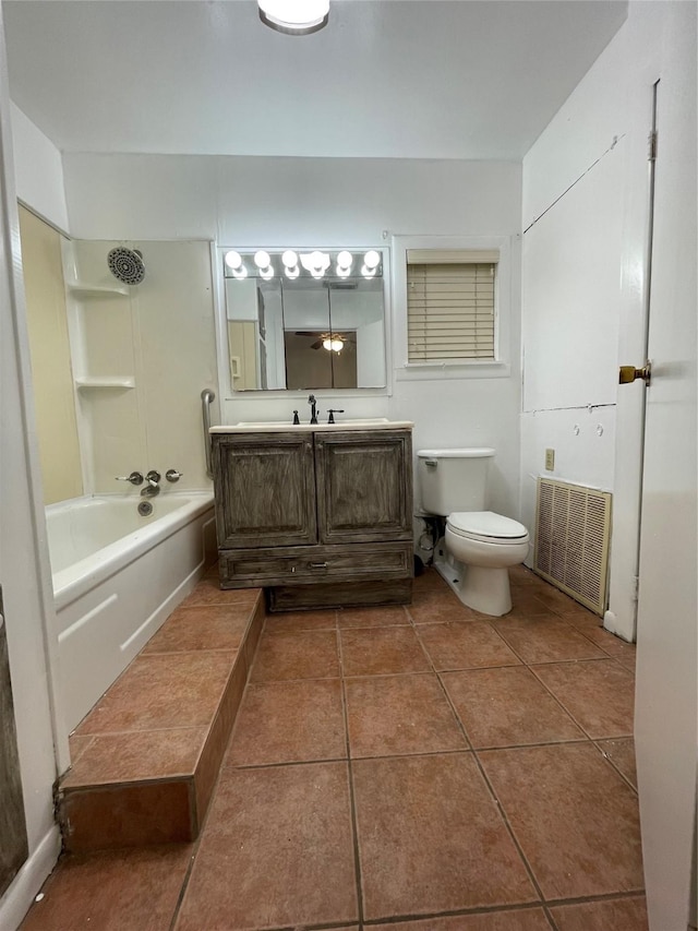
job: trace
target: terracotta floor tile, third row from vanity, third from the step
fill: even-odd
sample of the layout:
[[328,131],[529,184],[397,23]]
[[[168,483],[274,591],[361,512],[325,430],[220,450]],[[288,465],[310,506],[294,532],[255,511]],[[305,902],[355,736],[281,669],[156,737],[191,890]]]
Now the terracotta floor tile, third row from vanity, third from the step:
[[583,732],[524,666],[442,676],[476,748],[583,740]]

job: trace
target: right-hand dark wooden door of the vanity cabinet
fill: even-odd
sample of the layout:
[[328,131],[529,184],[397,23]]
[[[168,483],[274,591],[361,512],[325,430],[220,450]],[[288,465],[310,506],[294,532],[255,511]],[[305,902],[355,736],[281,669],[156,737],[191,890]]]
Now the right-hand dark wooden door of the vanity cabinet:
[[322,544],[412,539],[412,450],[406,430],[315,433]]

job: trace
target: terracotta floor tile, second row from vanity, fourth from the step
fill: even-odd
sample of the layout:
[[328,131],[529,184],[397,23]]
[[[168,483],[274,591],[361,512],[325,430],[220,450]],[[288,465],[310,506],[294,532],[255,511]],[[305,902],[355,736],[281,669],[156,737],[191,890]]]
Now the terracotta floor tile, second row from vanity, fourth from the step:
[[492,625],[525,663],[557,663],[566,659],[604,657],[599,647],[586,636],[557,619],[503,618],[493,621]]

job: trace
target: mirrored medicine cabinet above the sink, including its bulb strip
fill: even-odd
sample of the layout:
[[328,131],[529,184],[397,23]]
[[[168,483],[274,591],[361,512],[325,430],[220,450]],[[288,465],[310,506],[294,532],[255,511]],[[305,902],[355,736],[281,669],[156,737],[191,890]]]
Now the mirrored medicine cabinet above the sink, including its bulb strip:
[[385,387],[377,250],[222,251],[233,391]]

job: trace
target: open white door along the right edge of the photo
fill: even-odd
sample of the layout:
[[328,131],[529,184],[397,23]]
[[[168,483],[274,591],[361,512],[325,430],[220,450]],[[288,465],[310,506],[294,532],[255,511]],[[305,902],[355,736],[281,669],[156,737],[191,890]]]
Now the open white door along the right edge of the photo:
[[658,96],[635,726],[651,931],[688,926],[696,815],[696,5],[676,4],[670,22]]

